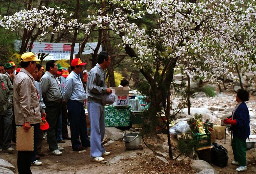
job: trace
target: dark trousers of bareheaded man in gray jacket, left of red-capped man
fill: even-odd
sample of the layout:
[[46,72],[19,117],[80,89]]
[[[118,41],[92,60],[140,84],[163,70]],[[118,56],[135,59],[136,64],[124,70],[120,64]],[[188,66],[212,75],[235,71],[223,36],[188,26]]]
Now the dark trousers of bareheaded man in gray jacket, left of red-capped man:
[[57,139],[56,139],[56,129],[58,126],[58,119],[61,111],[61,103],[56,102],[44,102],[46,105],[46,121],[49,124],[49,129],[47,130],[47,142],[49,143],[49,149],[51,151],[58,149]]

